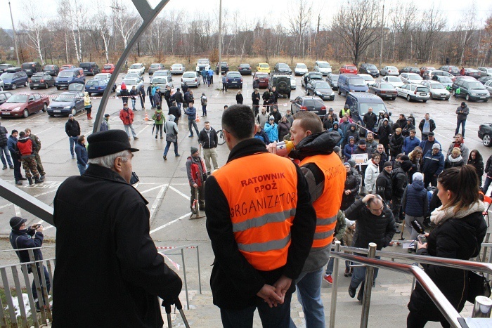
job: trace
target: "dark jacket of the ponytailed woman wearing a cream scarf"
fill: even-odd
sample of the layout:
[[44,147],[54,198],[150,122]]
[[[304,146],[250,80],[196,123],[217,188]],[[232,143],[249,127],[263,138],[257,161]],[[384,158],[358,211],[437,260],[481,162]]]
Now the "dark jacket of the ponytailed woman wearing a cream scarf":
[[[479,245],[484,240],[486,230],[486,223],[480,212],[472,213],[464,218],[450,218],[429,233],[427,249],[419,249],[417,254],[470,260],[479,254]],[[441,265],[422,263],[422,266],[446,299],[460,312],[465,306],[468,289],[465,282],[468,272]],[[445,320],[420,284],[415,285],[408,309],[422,320]]]

